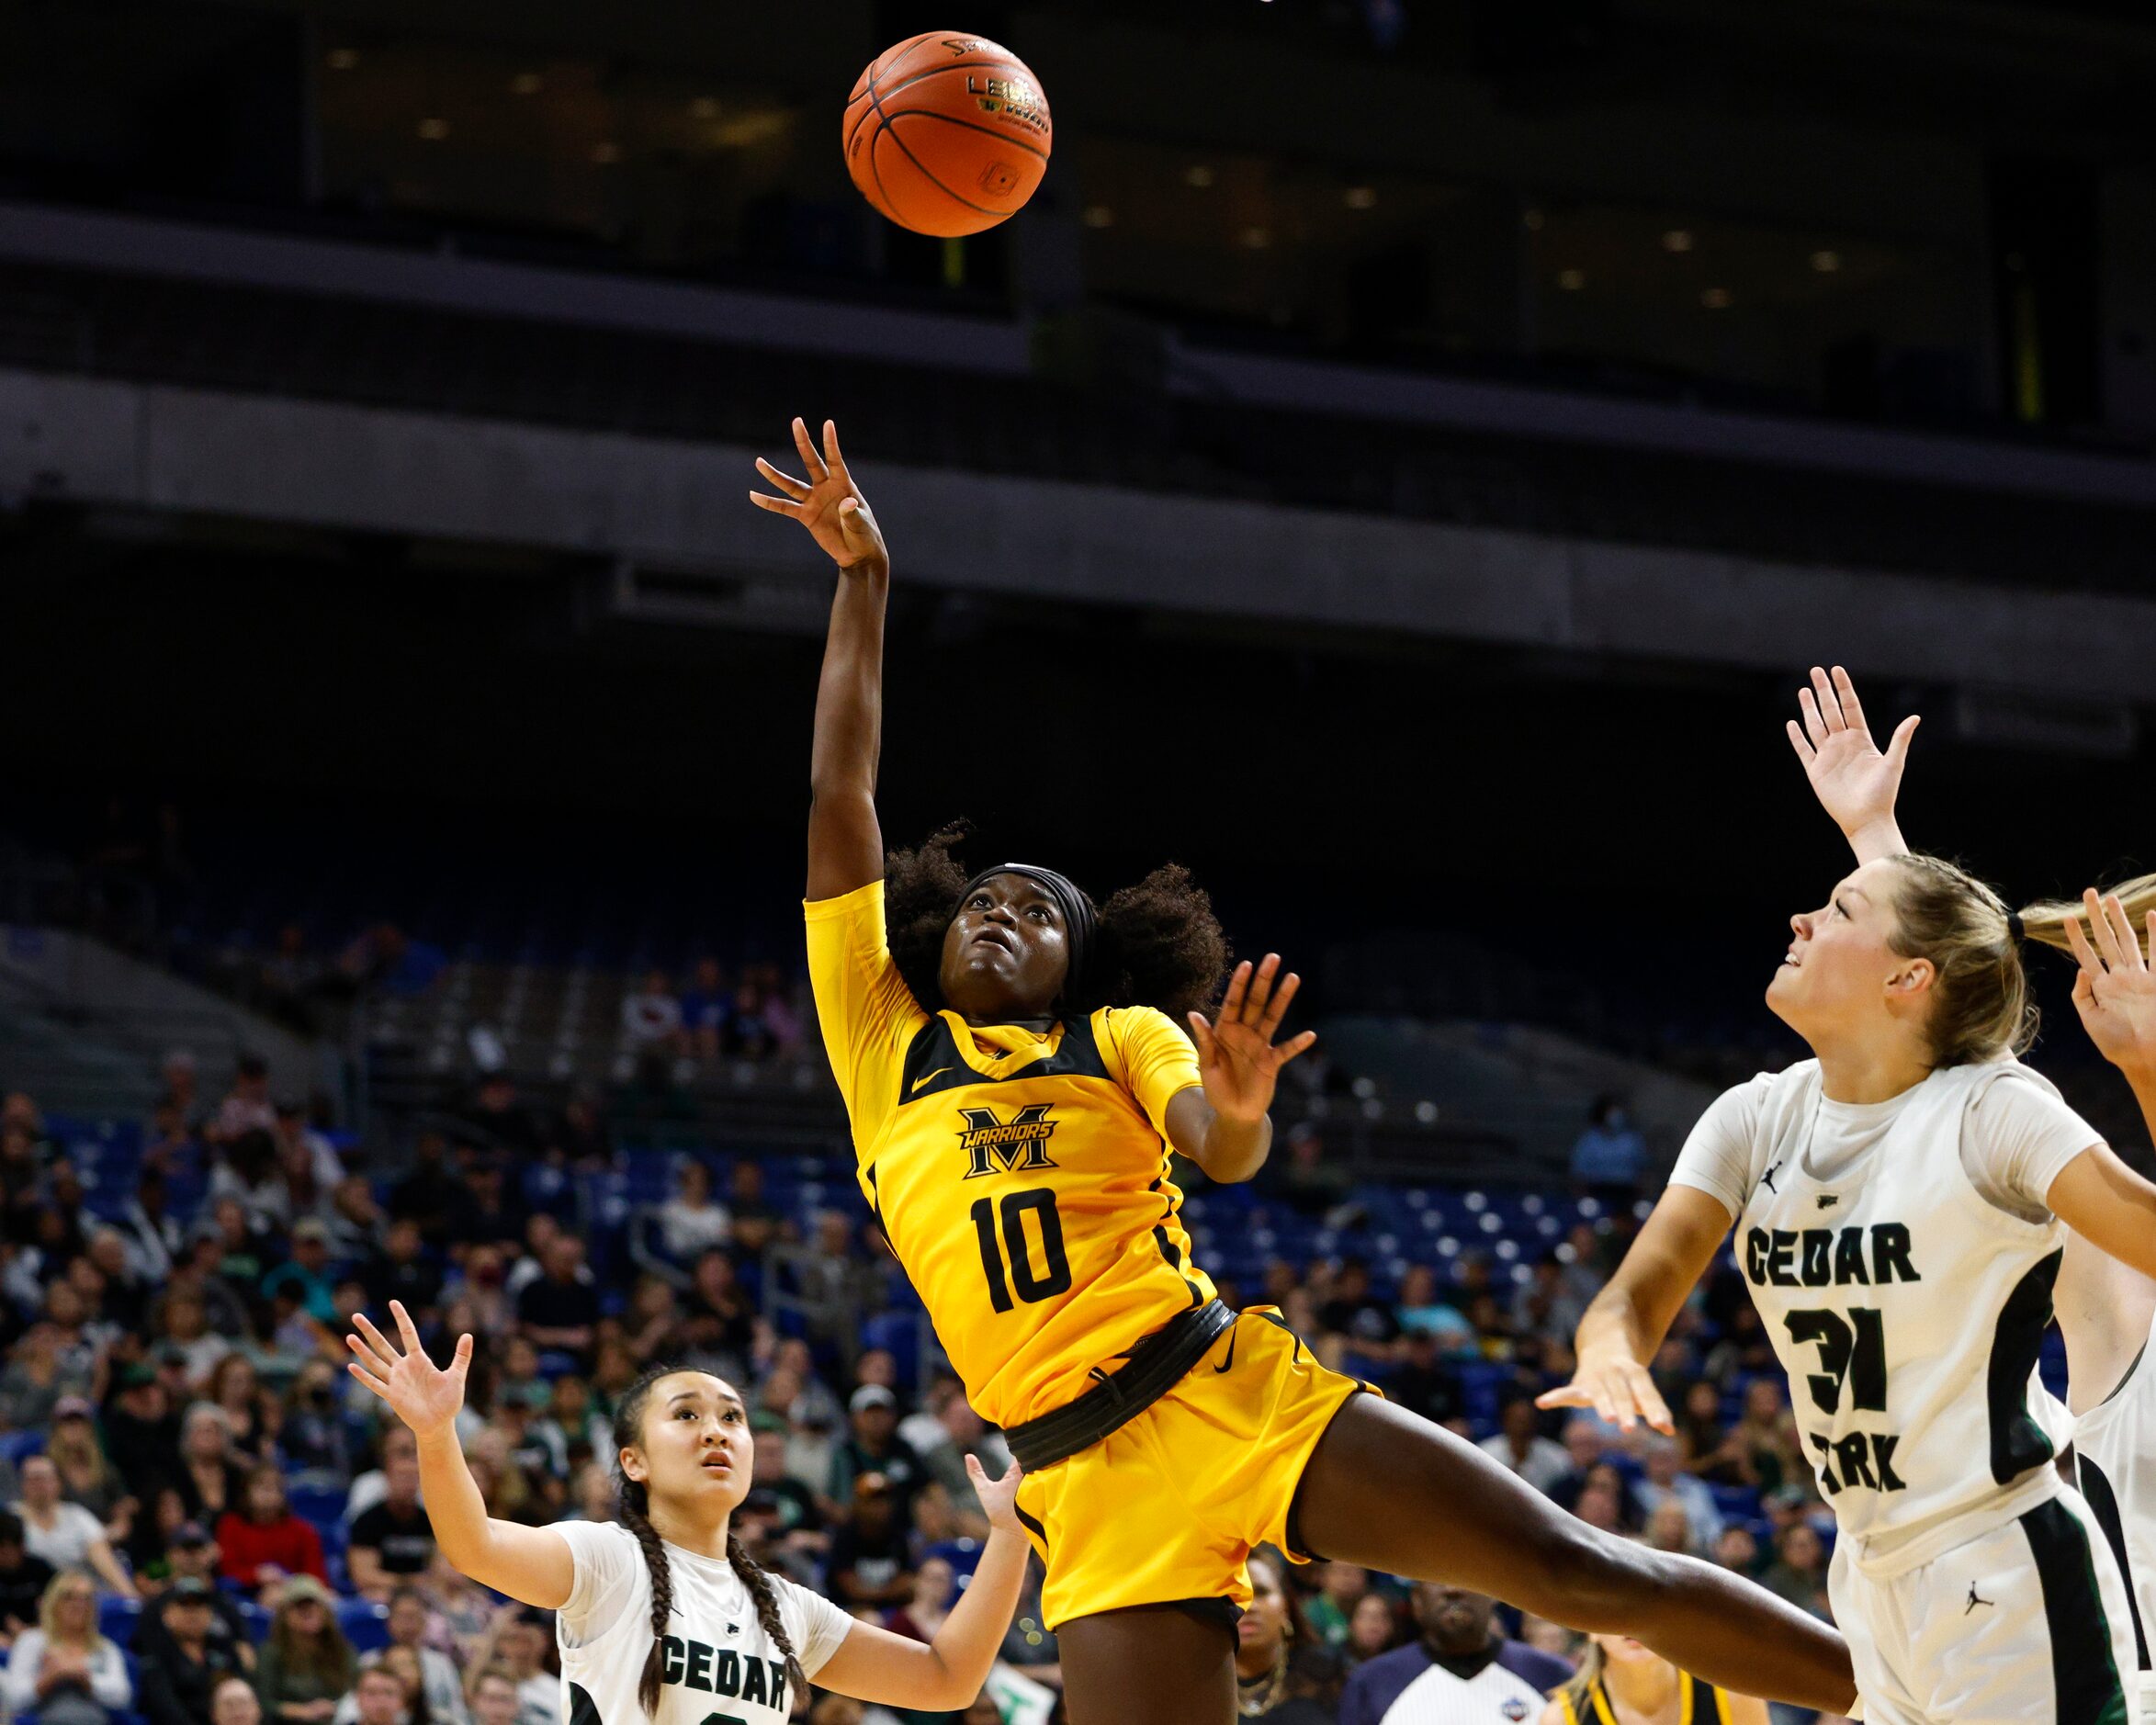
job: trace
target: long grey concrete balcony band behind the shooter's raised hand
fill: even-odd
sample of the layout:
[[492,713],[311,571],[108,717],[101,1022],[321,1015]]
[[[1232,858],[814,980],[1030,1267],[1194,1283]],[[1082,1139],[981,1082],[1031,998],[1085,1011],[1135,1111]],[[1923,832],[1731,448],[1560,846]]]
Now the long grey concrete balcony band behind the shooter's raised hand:
[[[780,453],[774,427],[772,453]],[[755,451],[0,371],[0,498],[403,533],[821,589],[746,502]],[[1621,658],[2156,699],[2156,602],[1177,498],[880,461],[901,576]]]

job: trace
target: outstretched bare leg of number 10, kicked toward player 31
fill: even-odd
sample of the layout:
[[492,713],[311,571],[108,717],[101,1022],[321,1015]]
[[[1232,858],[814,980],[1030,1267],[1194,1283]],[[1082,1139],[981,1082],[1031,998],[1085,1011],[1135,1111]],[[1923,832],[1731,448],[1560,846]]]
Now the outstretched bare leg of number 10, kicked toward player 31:
[[1636,1637],[1742,1695],[1826,1712],[1856,1699],[1848,1643],[1818,1617],[1727,1570],[1598,1533],[1376,1395],[1350,1399],[1319,1440],[1296,1488],[1296,1533],[1324,1557]]

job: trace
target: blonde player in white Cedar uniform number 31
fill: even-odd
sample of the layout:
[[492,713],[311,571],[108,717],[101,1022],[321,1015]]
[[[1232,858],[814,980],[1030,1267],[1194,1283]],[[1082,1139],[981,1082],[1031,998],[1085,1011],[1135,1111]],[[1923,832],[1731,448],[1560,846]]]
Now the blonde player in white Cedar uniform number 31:
[[2100,1000],[2150,994],[2126,975],[2134,934],[2115,897],[2016,912],[1912,854],[1893,804],[1917,720],[1876,748],[1839,666],[1800,707],[1789,740],[1861,865],[1789,919],[1766,990],[1815,1059],[1708,1108],[1580,1320],[1574,1382],[1542,1399],[1671,1432],[1645,1363],[1736,1225],[1841,1529],[1828,1598],[1871,1725],[2124,1725],[2134,1606],[2059,1477],[2035,1363],[2076,1251],[2156,1274],[2156,1186],[2016,1057],[2035,1039],[2022,938],[2083,957],[2074,998],[2104,1044]]

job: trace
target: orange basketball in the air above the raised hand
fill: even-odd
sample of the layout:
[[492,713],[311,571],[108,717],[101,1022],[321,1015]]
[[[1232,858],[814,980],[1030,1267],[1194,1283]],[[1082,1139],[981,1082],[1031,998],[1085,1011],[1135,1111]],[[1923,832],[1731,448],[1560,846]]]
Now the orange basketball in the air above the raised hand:
[[884,50],[845,104],[854,185],[901,229],[942,239],[1024,209],[1052,136],[1048,97],[1026,63],[955,30]]

